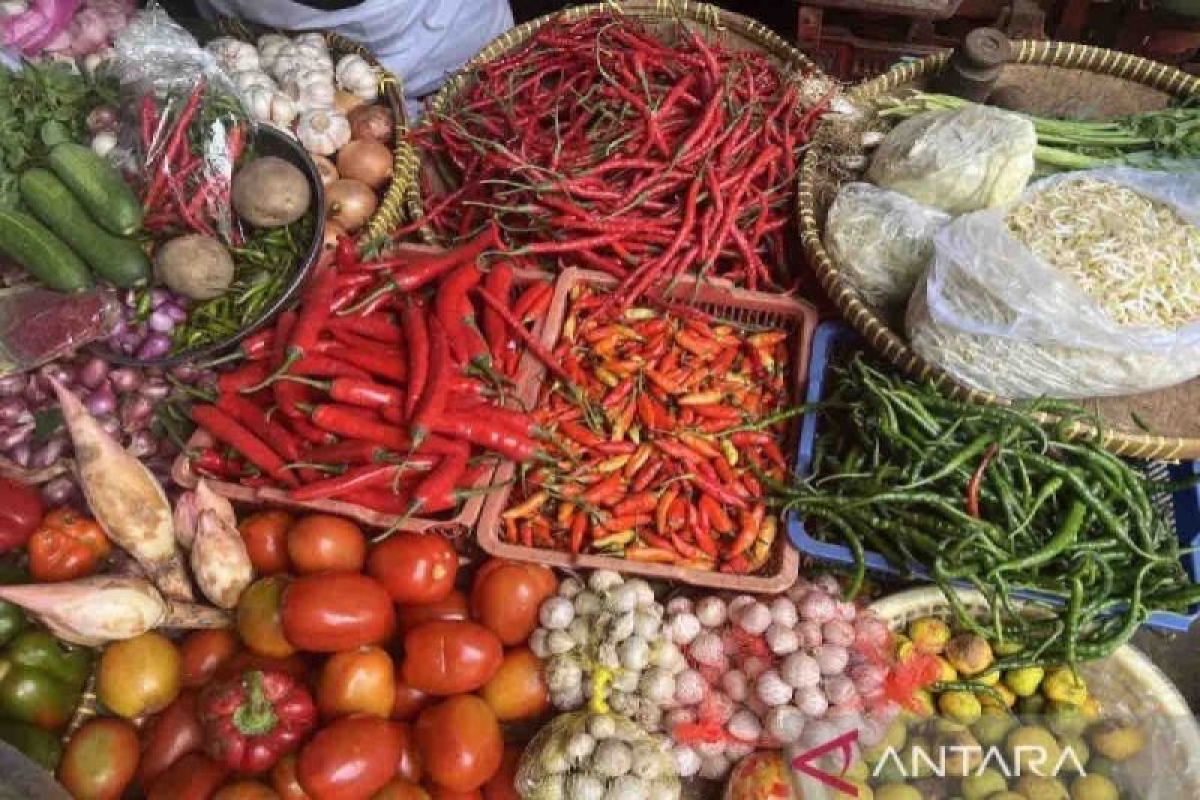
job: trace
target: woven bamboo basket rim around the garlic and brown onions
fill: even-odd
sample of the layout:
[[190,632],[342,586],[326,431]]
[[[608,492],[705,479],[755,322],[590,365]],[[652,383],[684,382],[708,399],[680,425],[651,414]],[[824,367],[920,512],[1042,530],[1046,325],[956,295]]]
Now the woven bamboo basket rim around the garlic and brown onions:
[[329,52],[336,60],[338,56],[354,53],[361,55],[368,64],[379,68],[379,96],[388,103],[395,119],[395,144],[392,145],[391,184],[384,192],[379,207],[371,215],[362,229],[364,237],[370,241],[386,236],[409,219],[420,216],[421,201],[418,192],[416,175],[420,169],[416,152],[408,142],[408,120],[404,114],[404,86],[400,77],[392,74],[374,58],[374,55],[352,40],[332,31],[288,31],[271,30],[241,19],[224,17],[214,23],[218,36],[233,36],[246,42],[253,42],[263,34],[278,32],[286,36],[299,36],[305,32],[319,32],[325,37]]

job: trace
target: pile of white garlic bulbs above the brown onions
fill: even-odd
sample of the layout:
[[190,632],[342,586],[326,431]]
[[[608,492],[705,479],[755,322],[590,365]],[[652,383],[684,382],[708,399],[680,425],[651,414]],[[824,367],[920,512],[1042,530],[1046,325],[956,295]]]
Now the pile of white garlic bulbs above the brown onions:
[[320,34],[265,34],[257,46],[222,36],[205,46],[238,88],[251,115],[296,137],[311,152],[331,155],[350,140],[338,92],[379,97],[379,70],[356,54],[334,58]]

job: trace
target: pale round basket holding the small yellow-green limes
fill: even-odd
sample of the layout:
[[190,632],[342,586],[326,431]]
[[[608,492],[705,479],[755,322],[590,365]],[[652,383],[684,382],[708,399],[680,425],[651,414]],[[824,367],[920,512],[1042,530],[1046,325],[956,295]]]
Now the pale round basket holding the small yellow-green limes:
[[[974,590],[958,590],[971,612],[988,614],[988,602]],[[922,616],[949,620],[952,612],[936,587],[911,589],[871,604],[889,628],[899,631]],[[1103,718],[1127,718],[1147,732],[1148,745],[1123,766],[1138,796],[1147,800],[1200,798],[1200,723],[1175,684],[1140,650],[1120,648],[1108,658],[1080,664],[1090,693],[1100,702]]]

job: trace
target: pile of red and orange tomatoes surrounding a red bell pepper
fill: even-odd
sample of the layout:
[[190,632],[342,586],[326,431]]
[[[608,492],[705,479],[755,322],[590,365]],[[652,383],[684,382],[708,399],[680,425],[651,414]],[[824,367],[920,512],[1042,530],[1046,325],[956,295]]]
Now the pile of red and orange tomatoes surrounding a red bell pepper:
[[328,515],[263,511],[239,528],[259,577],[233,630],[104,650],[102,716],[59,766],[74,796],[518,796],[504,738],[550,711],[526,643],[551,570],[491,560],[466,575],[443,536],[368,541]]

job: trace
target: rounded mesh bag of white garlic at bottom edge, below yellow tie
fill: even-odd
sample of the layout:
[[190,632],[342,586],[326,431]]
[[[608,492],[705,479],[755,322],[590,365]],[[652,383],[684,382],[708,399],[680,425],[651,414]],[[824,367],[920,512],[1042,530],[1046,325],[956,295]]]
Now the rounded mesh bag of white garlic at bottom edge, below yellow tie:
[[554,717],[524,748],[516,775],[524,800],[678,800],[679,776],[664,736],[605,711]]

